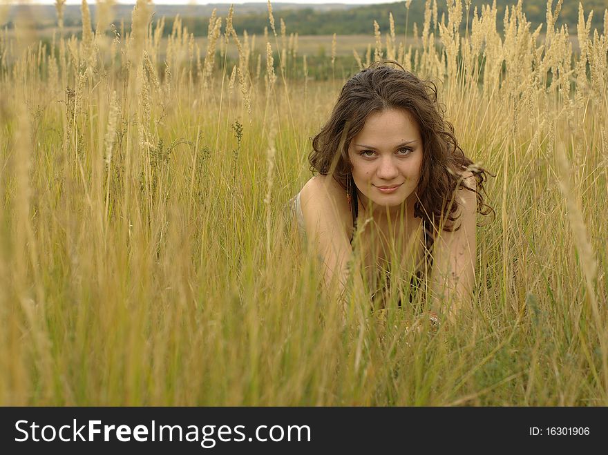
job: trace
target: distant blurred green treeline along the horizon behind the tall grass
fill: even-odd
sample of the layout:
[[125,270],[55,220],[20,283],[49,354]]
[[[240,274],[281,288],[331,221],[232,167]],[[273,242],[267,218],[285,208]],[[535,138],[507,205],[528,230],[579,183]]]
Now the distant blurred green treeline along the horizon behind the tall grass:
[[[466,8],[464,7],[466,1],[461,0],[463,5],[463,17],[462,17],[462,31],[466,28]],[[492,0],[472,0],[471,9],[468,12],[468,21],[471,23],[473,17],[473,10],[477,7],[478,14],[481,13],[482,5],[491,4]],[[516,0],[496,0],[497,5],[497,23],[498,29],[500,30],[502,20],[504,18],[504,10],[506,6],[513,6],[517,3]],[[556,3],[558,0],[553,0],[553,10],[555,10]],[[562,3],[560,15],[558,17],[557,26],[561,27],[566,24],[571,35],[576,35],[576,26],[578,24],[578,1],[576,0],[565,0]],[[585,19],[591,10],[593,10],[593,19],[591,21],[591,30],[594,28],[598,29],[598,32],[606,33],[607,30],[603,30],[604,12],[608,7],[607,0],[581,0],[582,6],[585,10]],[[279,23],[282,18],[287,26],[287,33],[298,33],[299,35],[332,35],[337,33],[338,35],[359,35],[359,34],[373,34],[374,20],[379,23],[380,30],[382,33],[388,32],[389,30],[389,19],[388,14],[392,12],[395,19],[395,32],[402,35],[406,31],[406,17],[408,23],[408,35],[412,35],[413,24],[417,23],[418,30],[421,30],[422,23],[424,22],[424,8],[426,0],[413,0],[409,11],[406,10],[406,2],[401,1],[397,3],[384,3],[382,5],[370,5],[370,6],[341,6],[332,7],[310,5],[310,7],[303,7],[296,5],[292,9],[288,5],[281,5],[274,11],[274,18],[276,20],[276,30],[279,32]],[[431,1],[433,5],[433,1]],[[263,6],[263,5],[261,5]],[[247,13],[238,12],[234,15],[233,23],[234,28],[237,32],[242,33],[243,30],[247,30],[249,35],[256,34],[260,35],[263,33],[264,28],[269,26],[267,12],[261,12],[261,6],[257,5],[256,8],[249,8]],[[218,6],[218,15],[225,17],[226,5]],[[55,26],[56,18],[55,13],[50,7],[39,7],[43,8],[37,19],[37,28],[46,28],[48,26]],[[78,7],[79,8],[79,7]],[[115,7],[115,23],[118,25],[121,21],[124,21],[124,28],[129,30],[130,23],[130,9],[126,5],[119,5]],[[201,37],[207,35],[207,28],[209,26],[209,11],[208,7],[204,10],[192,10],[189,6],[153,6],[156,8],[155,20],[164,16],[165,27],[164,33],[168,35],[171,33],[173,28],[173,21],[175,19],[175,12],[180,12],[180,17],[184,26],[187,26],[189,32],[193,32],[195,36]],[[333,8],[333,9],[332,9]],[[547,15],[547,0],[524,0],[523,1],[524,13],[528,21],[532,23],[533,28],[536,28],[540,23],[546,23]],[[253,12],[252,12],[253,11]],[[93,21],[95,21],[95,6],[91,6],[91,12],[93,15]],[[129,13],[129,14],[127,14]],[[441,22],[442,15],[447,14],[447,7],[445,0],[437,0],[437,20]],[[11,14],[9,14],[10,19]],[[10,19],[5,26],[12,28],[12,20]],[[80,20],[79,11],[72,8],[70,14],[66,14],[64,18],[64,25],[66,27],[82,26]],[[544,32],[544,28],[542,30]],[[591,32],[591,38],[593,37],[593,31]]]

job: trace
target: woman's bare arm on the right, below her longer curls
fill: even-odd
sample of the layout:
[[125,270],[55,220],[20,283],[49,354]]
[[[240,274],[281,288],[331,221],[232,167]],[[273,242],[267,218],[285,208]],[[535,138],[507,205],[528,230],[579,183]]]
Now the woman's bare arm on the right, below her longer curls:
[[[475,190],[475,176],[468,173],[464,179],[468,188]],[[474,191],[460,188],[456,194],[459,209],[456,223],[460,229],[441,231],[433,246],[433,271],[431,289],[435,298],[447,306],[439,311],[454,322],[455,314],[462,307],[470,307],[475,287],[476,242],[475,226],[477,195]]]

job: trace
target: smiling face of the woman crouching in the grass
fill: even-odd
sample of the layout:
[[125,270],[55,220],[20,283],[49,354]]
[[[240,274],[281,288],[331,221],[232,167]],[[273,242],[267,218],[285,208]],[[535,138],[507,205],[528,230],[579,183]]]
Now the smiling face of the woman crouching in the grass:
[[363,202],[398,207],[415,195],[422,153],[420,131],[408,111],[370,114],[348,147],[352,177]]

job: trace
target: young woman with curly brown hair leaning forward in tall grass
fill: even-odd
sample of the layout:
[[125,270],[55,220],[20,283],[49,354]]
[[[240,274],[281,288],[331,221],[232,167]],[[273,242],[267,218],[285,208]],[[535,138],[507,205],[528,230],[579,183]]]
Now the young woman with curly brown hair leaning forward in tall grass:
[[[327,288],[337,281],[341,298],[350,276],[357,283],[367,275],[378,289],[379,277],[389,281],[399,268],[412,273],[412,287],[424,278],[444,303],[434,306],[439,315],[429,313],[433,322],[453,320],[475,286],[475,215],[491,208],[482,197],[487,171],[459,147],[435,85],[394,61],[361,70],[342,88],[312,147],[318,175],[292,206],[325,264]],[[355,246],[362,274],[349,267]],[[383,307],[385,289],[374,306]]]

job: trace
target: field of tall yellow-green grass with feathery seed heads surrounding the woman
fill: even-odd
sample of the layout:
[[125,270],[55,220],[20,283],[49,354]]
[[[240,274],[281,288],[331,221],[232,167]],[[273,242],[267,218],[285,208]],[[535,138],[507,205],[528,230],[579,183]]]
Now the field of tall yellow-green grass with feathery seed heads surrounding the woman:
[[438,332],[397,284],[343,326],[284,216],[348,38],[314,81],[278,21],[253,51],[229,18],[162,40],[144,2],[129,36],[86,9],[82,39],[0,35],[0,405],[608,405],[608,11],[573,52],[553,10],[534,31],[466,3],[418,48],[368,39],[496,174],[474,308]]

